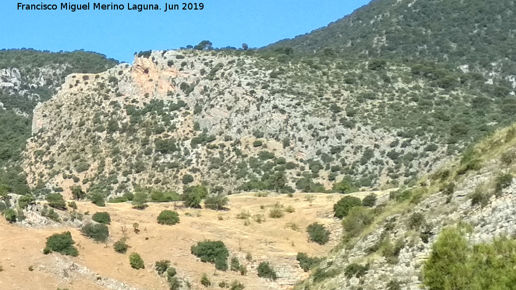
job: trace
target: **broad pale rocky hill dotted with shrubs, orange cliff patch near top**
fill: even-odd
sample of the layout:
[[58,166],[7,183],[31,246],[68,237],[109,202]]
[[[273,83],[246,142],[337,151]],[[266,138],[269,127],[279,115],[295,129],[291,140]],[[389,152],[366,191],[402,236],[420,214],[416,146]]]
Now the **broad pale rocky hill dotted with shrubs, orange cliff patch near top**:
[[191,182],[227,193],[320,192],[346,176],[410,182],[513,118],[481,76],[442,70],[460,85],[396,62],[141,53],[133,66],[69,76],[37,108],[26,173],[33,186],[72,179],[105,195]]

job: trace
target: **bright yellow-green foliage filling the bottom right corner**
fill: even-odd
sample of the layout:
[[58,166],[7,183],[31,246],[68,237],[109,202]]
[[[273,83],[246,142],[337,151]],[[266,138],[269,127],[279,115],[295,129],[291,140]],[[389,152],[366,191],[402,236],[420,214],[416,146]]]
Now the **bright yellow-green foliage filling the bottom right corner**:
[[460,229],[441,232],[423,267],[430,290],[513,289],[516,285],[516,240],[495,238],[471,246]]

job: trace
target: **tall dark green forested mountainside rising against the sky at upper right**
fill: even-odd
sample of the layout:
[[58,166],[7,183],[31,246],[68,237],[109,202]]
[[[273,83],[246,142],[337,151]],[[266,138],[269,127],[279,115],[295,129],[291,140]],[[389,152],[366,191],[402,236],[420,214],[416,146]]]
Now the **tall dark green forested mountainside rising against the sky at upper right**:
[[512,0],[375,0],[327,27],[269,47],[424,59],[514,78],[514,12]]

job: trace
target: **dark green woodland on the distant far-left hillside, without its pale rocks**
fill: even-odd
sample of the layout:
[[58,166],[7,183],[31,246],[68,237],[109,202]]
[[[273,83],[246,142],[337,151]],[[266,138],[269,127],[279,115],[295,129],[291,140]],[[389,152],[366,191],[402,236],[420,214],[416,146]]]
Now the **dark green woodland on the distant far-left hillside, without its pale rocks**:
[[[56,83],[64,82],[65,76],[71,73],[99,73],[114,67],[118,61],[107,59],[105,55],[74,51],[51,53],[48,51],[36,51],[31,49],[0,50],[0,69],[16,68],[20,70],[22,77],[38,77],[43,67],[56,67],[67,64],[60,74],[54,74]],[[49,80],[47,84],[54,81]],[[24,98],[19,95],[11,95],[7,91],[0,90],[0,102],[6,110],[0,110],[0,184],[11,186],[17,194],[27,194],[29,189],[25,175],[19,167],[20,153],[25,147],[25,141],[30,137],[34,107],[40,101],[50,99],[53,91],[49,85],[33,88],[22,83],[22,89],[30,93],[36,93],[37,98]],[[28,118],[14,114],[13,108],[29,114]],[[7,165],[7,168],[4,166]]]

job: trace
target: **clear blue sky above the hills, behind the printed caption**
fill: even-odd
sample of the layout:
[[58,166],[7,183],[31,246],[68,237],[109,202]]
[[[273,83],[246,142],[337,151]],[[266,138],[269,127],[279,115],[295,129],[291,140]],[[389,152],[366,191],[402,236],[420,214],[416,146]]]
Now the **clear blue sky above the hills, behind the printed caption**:
[[[50,51],[84,49],[131,62],[134,52],[178,49],[210,40],[215,47],[262,47],[293,38],[344,17],[368,0],[204,0],[203,10],[168,11],[172,0],[111,0],[123,11],[21,11],[23,0],[0,1],[0,49]],[[23,4],[56,4],[59,0],[25,0]],[[67,3],[64,2],[63,3]],[[88,2],[74,2],[86,4]],[[93,9],[90,2],[90,9]],[[98,2],[95,2],[98,3]],[[127,3],[157,4],[162,11],[130,11]],[[193,2],[195,3],[195,2]],[[200,2],[197,2],[200,3]]]

